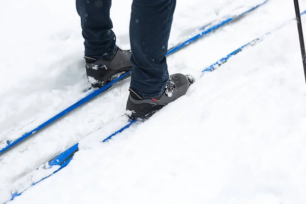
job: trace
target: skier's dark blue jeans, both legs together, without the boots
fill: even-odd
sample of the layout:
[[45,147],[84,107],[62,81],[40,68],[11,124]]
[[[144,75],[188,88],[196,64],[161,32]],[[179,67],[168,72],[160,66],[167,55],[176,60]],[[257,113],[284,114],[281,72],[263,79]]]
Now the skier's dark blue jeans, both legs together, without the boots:
[[[111,0],[76,0],[85,55],[110,59],[117,47]],[[133,0],[130,42],[131,88],[144,98],[160,95],[169,79],[166,54],[176,0]],[[118,14],[120,15],[120,14]]]

